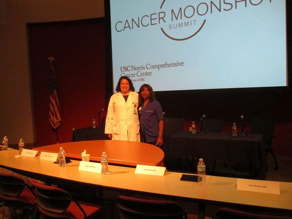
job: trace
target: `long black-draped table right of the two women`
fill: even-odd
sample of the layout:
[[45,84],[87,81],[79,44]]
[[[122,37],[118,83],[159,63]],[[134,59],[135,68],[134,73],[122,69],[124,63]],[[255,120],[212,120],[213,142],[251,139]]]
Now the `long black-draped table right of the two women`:
[[247,167],[253,178],[266,178],[267,161],[263,135],[260,134],[232,136],[231,133],[180,132],[164,137],[164,153],[165,164],[179,157],[196,157],[211,161],[209,164],[222,161],[235,169]]

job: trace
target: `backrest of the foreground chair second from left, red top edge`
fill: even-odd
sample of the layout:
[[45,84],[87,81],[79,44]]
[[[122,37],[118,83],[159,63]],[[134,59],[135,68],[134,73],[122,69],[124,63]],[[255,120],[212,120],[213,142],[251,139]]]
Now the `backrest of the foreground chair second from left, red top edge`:
[[39,184],[32,179],[29,182],[35,187],[39,207],[54,213],[62,213],[67,210],[72,201],[70,193],[56,186]]

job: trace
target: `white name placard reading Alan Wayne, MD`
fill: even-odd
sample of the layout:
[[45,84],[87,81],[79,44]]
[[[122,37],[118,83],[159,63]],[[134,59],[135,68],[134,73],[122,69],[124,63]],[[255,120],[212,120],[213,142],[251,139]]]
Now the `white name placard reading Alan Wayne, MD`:
[[280,195],[280,184],[274,181],[237,179],[237,190]]

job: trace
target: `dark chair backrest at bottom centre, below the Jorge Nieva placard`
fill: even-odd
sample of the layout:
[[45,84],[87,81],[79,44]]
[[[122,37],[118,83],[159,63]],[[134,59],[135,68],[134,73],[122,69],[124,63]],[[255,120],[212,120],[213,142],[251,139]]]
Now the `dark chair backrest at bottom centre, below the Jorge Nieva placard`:
[[186,213],[176,202],[119,196],[120,219],[185,219]]

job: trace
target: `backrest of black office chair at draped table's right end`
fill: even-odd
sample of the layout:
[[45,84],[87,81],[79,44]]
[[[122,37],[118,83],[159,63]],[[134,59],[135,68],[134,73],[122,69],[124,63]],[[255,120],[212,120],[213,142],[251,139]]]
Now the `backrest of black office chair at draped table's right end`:
[[262,134],[266,145],[272,145],[274,121],[268,118],[253,118],[251,133]]

